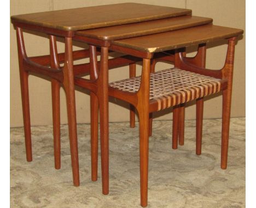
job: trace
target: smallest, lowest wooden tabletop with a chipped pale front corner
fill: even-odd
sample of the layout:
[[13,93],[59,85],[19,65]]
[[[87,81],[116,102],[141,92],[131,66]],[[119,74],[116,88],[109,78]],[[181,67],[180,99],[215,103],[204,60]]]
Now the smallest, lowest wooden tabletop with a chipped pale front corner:
[[232,38],[242,33],[242,29],[208,24],[136,38],[113,40],[112,45],[152,53]]

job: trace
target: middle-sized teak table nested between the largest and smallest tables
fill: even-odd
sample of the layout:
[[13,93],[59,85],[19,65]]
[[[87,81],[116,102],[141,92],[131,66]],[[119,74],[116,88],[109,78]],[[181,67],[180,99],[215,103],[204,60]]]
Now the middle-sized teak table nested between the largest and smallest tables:
[[[75,32],[73,37],[74,40],[83,41],[90,46],[90,64],[91,64],[91,79],[80,78],[78,75],[83,74],[83,71],[75,73],[74,83],[79,87],[89,89],[91,94],[91,133],[92,137],[97,137],[97,124],[98,124],[98,115],[97,115],[97,101],[100,103],[100,130],[101,130],[101,165],[102,165],[102,185],[103,193],[108,193],[108,69],[113,67],[112,60],[108,60],[108,52],[110,48],[113,48],[113,51],[118,51],[113,45],[115,40],[122,38],[129,38],[138,35],[154,34],[159,32],[166,32],[170,30],[177,30],[181,28],[188,28],[193,26],[206,25],[211,23],[212,19],[205,17],[197,16],[179,16],[172,17],[161,20],[153,20],[147,22],[139,23],[130,23],[120,26],[111,26],[106,28],[97,28],[97,29],[88,29],[88,30],[79,30]],[[143,37],[143,36],[141,36]],[[97,51],[96,46],[101,48],[101,61],[97,62]],[[129,48],[127,48],[129,50]],[[126,53],[126,51],[123,51]],[[121,64],[130,64],[134,63],[134,57],[143,58],[139,56],[139,51],[133,50],[131,53],[127,53],[133,56],[132,57],[123,57],[117,59],[119,66]],[[154,58],[161,57],[161,54],[156,55]],[[153,53],[152,53],[153,57]],[[164,54],[166,57],[166,54]],[[170,60],[170,59],[169,59]],[[117,66],[117,65],[115,65]],[[100,70],[98,70],[100,68]],[[85,69],[85,68],[84,68]],[[135,73],[134,73],[135,74]],[[95,97],[96,95],[96,97]],[[103,141],[105,139],[105,142]],[[91,151],[92,161],[97,159],[97,142],[92,138]],[[96,165],[95,165],[96,166]],[[92,178],[96,180],[97,178],[97,168],[92,164]],[[106,184],[106,186],[104,186]]]

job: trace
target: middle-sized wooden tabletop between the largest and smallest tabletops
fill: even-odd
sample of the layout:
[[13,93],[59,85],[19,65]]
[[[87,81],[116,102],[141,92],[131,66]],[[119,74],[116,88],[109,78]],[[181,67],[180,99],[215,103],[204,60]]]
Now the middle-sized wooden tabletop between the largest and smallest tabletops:
[[118,40],[140,35],[148,35],[176,29],[205,25],[211,22],[211,18],[183,15],[178,17],[169,17],[160,20],[130,23],[119,26],[78,30],[75,32],[75,34],[101,40]]

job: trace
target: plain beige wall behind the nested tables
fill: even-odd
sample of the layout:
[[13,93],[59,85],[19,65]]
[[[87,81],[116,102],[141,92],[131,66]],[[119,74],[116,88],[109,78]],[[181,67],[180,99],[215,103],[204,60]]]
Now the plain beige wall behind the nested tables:
[[[89,7],[92,5],[122,3],[126,1],[118,0],[11,0],[10,15],[36,13],[39,11],[59,10],[77,7]],[[135,1],[137,3],[165,5],[169,7],[188,8],[193,10],[193,15],[211,17],[213,23],[220,26],[236,27],[245,30],[245,1],[243,0],[144,0]],[[25,44],[28,56],[37,56],[49,53],[49,41],[42,36],[25,33]],[[77,45],[77,44],[75,44]],[[83,46],[79,44],[79,46]],[[207,68],[218,69],[224,63],[226,45],[212,47],[207,51]],[[58,44],[59,52],[63,52],[63,44]],[[86,47],[86,45],[84,45]],[[74,46],[74,50],[78,47]],[[194,53],[192,53],[194,54]],[[159,63],[156,70],[161,70],[170,65]],[[19,64],[16,47],[16,35],[12,25],[10,25],[10,126],[23,126],[22,108],[19,82]],[[138,66],[141,69],[141,66]],[[121,73],[120,73],[121,71]],[[138,70],[138,74],[139,74]],[[114,69],[109,72],[110,81],[114,81],[128,76],[128,68]],[[51,125],[51,93],[50,82],[41,78],[30,76],[30,112],[31,125]],[[89,95],[76,91],[77,122],[90,122]],[[115,105],[115,100],[109,105],[110,121],[129,120],[129,111],[124,107]],[[126,103],[119,102],[127,107]],[[221,96],[205,102],[205,118],[220,118],[222,112]],[[232,95],[231,117],[245,117],[245,35],[238,41],[235,55],[234,84]],[[170,112],[170,111],[164,111]],[[155,114],[156,119],[172,119],[172,114]],[[189,106],[186,111],[186,119],[195,119],[195,106]],[[61,89],[61,123],[67,123],[65,94]]]

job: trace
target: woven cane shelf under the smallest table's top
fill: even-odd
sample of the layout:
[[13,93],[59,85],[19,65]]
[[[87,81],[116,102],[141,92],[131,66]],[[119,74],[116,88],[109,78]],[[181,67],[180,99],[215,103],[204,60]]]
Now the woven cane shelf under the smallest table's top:
[[[178,68],[150,74],[150,102],[158,103],[157,111],[199,97],[218,93],[225,79],[196,74]],[[135,93],[141,84],[141,76],[110,83],[110,87]]]

